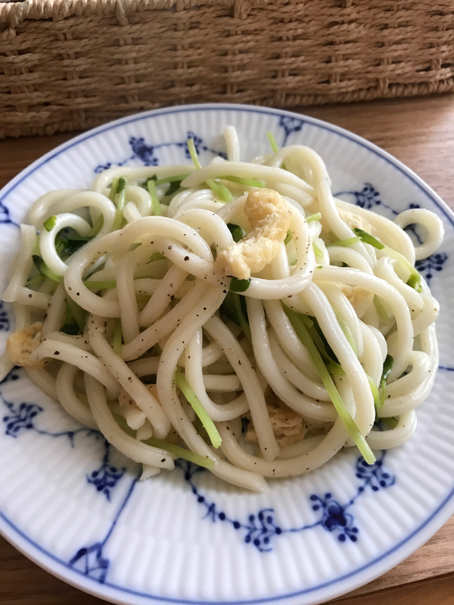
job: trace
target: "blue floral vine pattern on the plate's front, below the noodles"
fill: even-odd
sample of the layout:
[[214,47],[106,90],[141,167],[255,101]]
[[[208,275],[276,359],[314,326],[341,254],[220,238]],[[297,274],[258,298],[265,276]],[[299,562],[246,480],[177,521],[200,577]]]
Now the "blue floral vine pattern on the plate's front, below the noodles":
[[[10,374],[9,379],[14,380],[13,376],[16,376],[17,379],[18,374]],[[126,469],[112,465],[110,460],[110,445],[98,431],[88,428],[57,432],[43,430],[35,424],[36,418],[44,411],[41,405],[28,402],[14,404],[4,399],[4,397],[1,397],[1,399],[7,408],[7,413],[2,418],[5,425],[5,434],[15,439],[22,431],[27,430],[53,438],[67,437],[71,447],[75,446],[74,437],[79,434],[94,436],[96,439],[104,440],[104,456],[101,465],[88,474],[86,479],[88,483],[93,485],[98,492],[104,494],[107,500],[110,501],[111,490],[122,479],[126,473]],[[200,488],[194,482],[194,477],[205,471],[205,469],[184,460],[177,460],[176,466],[183,471],[185,482],[188,483],[192,494],[196,497],[197,503],[205,508],[204,519],[211,520],[213,523],[218,521],[225,522],[235,530],[242,530],[245,534],[243,541],[246,544],[254,546],[259,552],[269,552],[272,550],[271,541],[275,537],[315,529],[319,526],[328,532],[335,532],[335,535],[337,535],[338,540],[341,542],[347,538],[352,542],[357,541],[359,530],[355,525],[354,515],[351,512],[347,512],[347,510],[354,505],[367,487],[370,487],[372,491],[378,491],[380,488],[388,488],[394,485],[395,476],[387,473],[383,468],[384,456],[385,452],[383,451],[380,458],[370,466],[367,465],[362,457],[358,458],[355,467],[355,476],[361,480],[361,483],[357,488],[356,494],[348,502],[340,503],[331,492],[324,492],[321,496],[311,494],[312,511],[318,513],[318,519],[295,528],[283,528],[278,524],[275,521],[274,508],[271,507],[262,508],[258,512],[251,513],[245,520],[231,517],[231,515],[220,509],[217,503],[206,497],[206,495],[203,495]],[[138,477],[139,475],[131,481],[130,488],[120,503],[117,512],[114,514],[111,526],[104,539],[92,545],[83,546],[70,560],[70,566],[77,567],[79,571],[82,571],[85,575],[89,575],[100,583],[105,581],[110,565],[108,558],[103,555],[103,548],[113,533],[120,514],[127,506]]]

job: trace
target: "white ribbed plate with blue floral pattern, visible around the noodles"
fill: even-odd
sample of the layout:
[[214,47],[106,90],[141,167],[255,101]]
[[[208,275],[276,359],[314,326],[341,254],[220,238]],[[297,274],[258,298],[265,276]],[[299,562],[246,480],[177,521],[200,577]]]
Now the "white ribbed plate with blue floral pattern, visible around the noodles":
[[[146,482],[139,468],[13,370],[0,384],[0,531],[44,569],[114,603],[320,603],[408,557],[454,512],[454,215],[413,172],[341,128],[286,111],[196,105],[151,111],[82,134],[0,193],[0,275],[18,224],[50,189],[89,187],[111,165],[202,162],[224,154],[236,126],[242,159],[304,143],[326,162],[332,191],[388,218],[424,207],[441,217],[439,252],[418,262],[440,302],[440,363],[409,443],[364,465],[343,451],[264,494],[232,488],[187,463]],[[1,347],[13,330],[0,311]]]

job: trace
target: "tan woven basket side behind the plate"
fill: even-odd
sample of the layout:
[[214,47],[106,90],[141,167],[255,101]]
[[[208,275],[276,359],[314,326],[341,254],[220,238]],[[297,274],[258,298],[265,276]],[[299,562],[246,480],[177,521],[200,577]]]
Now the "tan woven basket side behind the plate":
[[0,137],[179,103],[289,107],[453,88],[452,0],[0,4]]

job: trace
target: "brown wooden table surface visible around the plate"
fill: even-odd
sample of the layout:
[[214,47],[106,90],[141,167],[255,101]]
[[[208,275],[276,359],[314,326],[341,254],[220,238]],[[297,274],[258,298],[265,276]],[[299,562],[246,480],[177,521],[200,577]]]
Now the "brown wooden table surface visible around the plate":
[[[376,143],[412,168],[454,208],[454,96],[299,108]],[[73,134],[0,141],[0,187]],[[402,586],[404,584],[404,586]],[[2,605],[104,603],[57,580],[0,537]],[[454,517],[395,569],[337,605],[454,605]]]

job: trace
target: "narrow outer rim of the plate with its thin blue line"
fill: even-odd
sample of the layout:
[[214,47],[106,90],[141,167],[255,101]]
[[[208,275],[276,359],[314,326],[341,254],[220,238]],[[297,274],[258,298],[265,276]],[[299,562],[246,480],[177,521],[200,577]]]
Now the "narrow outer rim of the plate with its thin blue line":
[[[369,142],[367,139],[349,131],[341,126],[334,125],[326,120],[321,120],[312,116],[306,116],[305,114],[297,113],[294,111],[281,110],[279,108],[271,108],[260,105],[243,105],[240,103],[194,103],[192,105],[176,105],[171,107],[159,108],[156,110],[143,111],[132,116],[125,116],[111,122],[107,122],[100,126],[96,126],[82,132],[81,134],[71,137],[56,148],[51,149],[46,154],[39,157],[35,162],[24,168],[19,172],[16,177],[10,180],[0,190],[0,203],[3,203],[5,198],[20,184],[25,178],[28,178],[33,172],[41,168],[50,160],[57,157],[62,152],[67,151],[73,146],[83,143],[85,140],[91,139],[98,134],[110,131],[118,128],[119,126],[140,122],[141,120],[153,118],[157,116],[166,116],[168,114],[175,113],[186,113],[191,111],[247,111],[250,113],[265,114],[269,116],[281,117],[288,116],[297,119],[303,119],[304,122],[318,126],[326,131],[337,134],[344,139],[350,140],[357,145],[372,151],[373,154],[377,155],[381,159],[398,169],[405,177],[409,178],[424,194],[426,194],[435,206],[442,212],[447,218],[449,223],[454,227],[454,212],[447,206],[442,198],[436,194],[433,189],[427,185],[427,183],[419,177],[412,169],[404,165],[403,162],[396,159],[392,154],[381,149],[375,143]],[[439,505],[432,511],[432,513],[418,525],[409,535],[403,540],[398,542],[392,548],[373,558],[364,565],[353,569],[337,578],[328,580],[324,583],[318,584],[317,586],[308,587],[306,589],[297,590],[287,594],[276,595],[274,597],[263,597],[249,600],[235,600],[235,601],[208,601],[208,600],[187,600],[182,598],[163,597],[160,595],[151,595],[146,592],[139,592],[137,590],[128,589],[127,587],[118,586],[117,584],[110,584],[108,581],[99,583],[86,577],[82,572],[77,571],[68,566],[68,564],[48,552],[45,548],[36,543],[33,539],[19,529],[15,523],[9,520],[2,511],[0,511],[0,534],[18,549],[19,552],[24,554],[28,559],[38,564],[38,566],[45,569],[45,571],[58,577],[60,580],[71,584],[78,589],[84,590],[89,594],[92,594],[99,598],[109,599],[116,603],[122,603],[129,605],[133,603],[131,600],[124,600],[120,598],[120,594],[130,595],[136,598],[134,603],[145,602],[145,600],[161,601],[163,603],[184,603],[185,605],[246,605],[246,604],[261,604],[261,603],[276,603],[277,601],[288,602],[291,599],[302,597],[308,594],[319,594],[317,599],[311,601],[312,603],[320,603],[326,600],[326,598],[339,597],[350,590],[354,590],[359,586],[363,586],[369,583],[373,579],[384,574],[392,567],[399,564],[405,558],[409,557],[412,552],[415,552],[420,546],[422,546],[432,535],[441,528],[448,518],[454,513],[454,486],[448,495],[439,503]],[[62,567],[62,569],[61,569]],[[369,573],[366,573],[369,570]],[[361,574],[365,574],[366,577],[361,578]],[[351,578],[356,577],[356,581],[349,582]],[[343,586],[344,584],[344,586]],[[332,587],[337,585],[337,590],[332,590]],[[118,594],[120,593],[120,594]],[[323,594],[324,593],[324,594]],[[320,598],[318,598],[320,596]],[[138,601],[139,599],[140,601]]]

